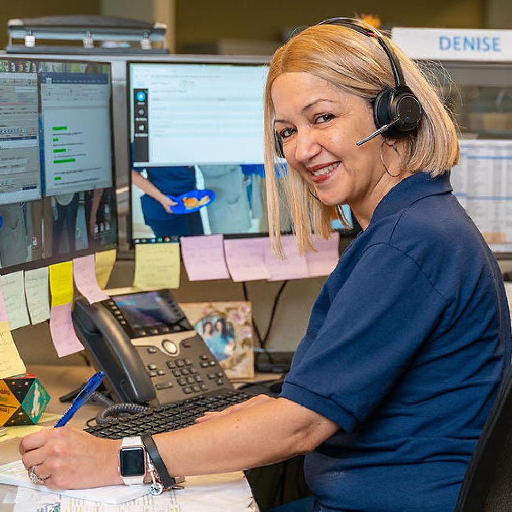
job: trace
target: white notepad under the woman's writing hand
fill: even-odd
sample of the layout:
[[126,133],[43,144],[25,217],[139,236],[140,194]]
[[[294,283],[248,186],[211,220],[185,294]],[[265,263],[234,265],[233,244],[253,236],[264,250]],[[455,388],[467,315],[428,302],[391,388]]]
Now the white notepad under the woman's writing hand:
[[[55,494],[55,489],[48,489],[44,485],[32,483],[28,477],[27,470],[23,467],[22,461],[9,462],[0,466],[0,483],[16,485],[39,490],[42,493]],[[149,485],[112,485],[110,487],[98,487],[96,489],[58,490],[62,496],[82,498],[84,500],[99,501],[100,503],[111,503],[119,505],[125,501],[139,498],[149,493]]]

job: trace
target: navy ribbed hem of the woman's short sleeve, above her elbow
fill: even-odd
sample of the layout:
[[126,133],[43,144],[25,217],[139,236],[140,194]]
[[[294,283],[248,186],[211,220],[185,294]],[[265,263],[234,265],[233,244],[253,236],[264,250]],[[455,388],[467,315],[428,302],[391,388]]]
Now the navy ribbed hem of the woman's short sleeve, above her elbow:
[[345,432],[353,432],[357,425],[358,420],[349,411],[334,402],[328,397],[318,395],[310,390],[298,386],[292,382],[283,383],[283,390],[279,395],[280,398],[287,398],[292,402],[298,403],[311,411],[314,411],[326,418],[334,421]]

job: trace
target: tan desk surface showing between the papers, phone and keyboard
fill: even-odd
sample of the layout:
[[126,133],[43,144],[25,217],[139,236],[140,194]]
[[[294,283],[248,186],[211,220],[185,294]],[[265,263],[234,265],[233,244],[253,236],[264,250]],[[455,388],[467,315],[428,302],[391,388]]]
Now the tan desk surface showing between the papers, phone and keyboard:
[[[94,370],[87,366],[30,365],[27,367],[27,371],[34,373],[40,379],[42,385],[51,397],[46,412],[56,414],[62,414],[69,407],[69,403],[61,403],[59,401],[59,397],[78,388],[94,373]],[[275,378],[275,375],[273,378]],[[87,403],[78,410],[70,421],[70,424],[83,428],[84,423],[89,418],[95,417],[99,410],[100,407]],[[54,421],[40,424],[53,426]],[[11,428],[15,429],[16,427]],[[0,464],[5,464],[19,459],[18,445],[19,438],[0,442]],[[242,472],[236,472],[232,474],[219,475],[218,478],[216,477],[216,475],[209,475],[207,477],[189,477],[186,479],[186,482],[190,482],[194,485],[211,484],[216,481],[226,482],[232,481],[233,479],[240,480],[244,478],[244,475]],[[13,510],[13,504],[3,503],[4,498],[8,493],[12,493],[13,489],[15,489],[15,487],[0,484],[0,512],[11,512]],[[212,508],[212,512],[214,512],[214,510],[218,510],[218,508]],[[183,510],[182,512],[187,511]]]

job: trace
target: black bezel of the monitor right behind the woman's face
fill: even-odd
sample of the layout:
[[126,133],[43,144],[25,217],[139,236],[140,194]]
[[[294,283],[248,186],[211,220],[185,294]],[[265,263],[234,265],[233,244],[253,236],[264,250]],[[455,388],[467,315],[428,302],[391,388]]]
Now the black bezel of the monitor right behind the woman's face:
[[[263,65],[268,66],[271,57],[268,56],[234,56],[234,55],[174,55],[172,58],[166,60],[127,60],[126,61],[126,121],[127,121],[127,151],[128,151],[128,162],[129,162],[129,177],[128,177],[128,185],[129,185],[129,202],[128,202],[128,215],[129,219],[126,222],[126,240],[130,249],[134,249],[136,245],[143,245],[144,243],[162,243],[162,242],[149,242],[151,237],[148,238],[147,242],[141,242],[136,244],[134,242],[133,237],[133,195],[132,195],[132,119],[131,119],[131,102],[132,102],[132,74],[131,74],[131,66],[132,65],[176,65],[176,64],[223,64],[223,65],[238,65],[238,66],[254,66],[254,65]],[[352,213],[352,229],[333,229],[333,232],[338,232],[340,237],[342,238],[355,238],[357,234],[361,231],[359,223]],[[257,237],[268,237],[268,231],[258,232],[258,233],[212,233],[212,234],[222,234],[225,239],[237,239],[237,238],[257,238]],[[293,234],[292,231],[282,231],[281,234]],[[204,235],[208,236],[208,235]],[[179,236],[171,236],[170,242],[164,243],[174,243],[179,242]],[[143,239],[146,240],[146,239]]]

